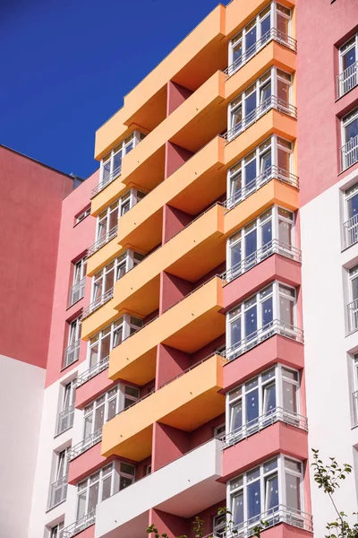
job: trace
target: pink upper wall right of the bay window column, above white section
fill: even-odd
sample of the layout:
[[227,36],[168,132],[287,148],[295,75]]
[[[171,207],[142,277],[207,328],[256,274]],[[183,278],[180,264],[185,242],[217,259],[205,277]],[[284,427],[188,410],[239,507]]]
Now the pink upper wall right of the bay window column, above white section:
[[[317,22],[324,31],[317,31]],[[300,0],[297,25],[298,174],[301,205],[320,195],[338,178],[338,148],[342,145],[336,115],[353,106],[358,88],[336,100],[337,48],[358,21],[352,0]],[[352,169],[348,169],[349,173]]]

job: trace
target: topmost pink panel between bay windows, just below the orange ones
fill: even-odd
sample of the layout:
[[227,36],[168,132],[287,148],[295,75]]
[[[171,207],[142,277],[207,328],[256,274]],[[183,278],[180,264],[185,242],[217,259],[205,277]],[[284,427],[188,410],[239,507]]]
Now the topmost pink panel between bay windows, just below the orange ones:
[[279,280],[290,286],[301,285],[301,264],[284,256],[274,254],[247,273],[243,273],[223,288],[223,312],[242,302],[252,293],[264,288],[269,282]]

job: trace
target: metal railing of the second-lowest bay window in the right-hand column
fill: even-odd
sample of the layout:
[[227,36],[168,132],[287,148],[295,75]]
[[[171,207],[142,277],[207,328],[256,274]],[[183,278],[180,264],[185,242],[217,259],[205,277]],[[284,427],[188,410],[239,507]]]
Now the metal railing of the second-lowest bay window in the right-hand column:
[[254,433],[271,426],[271,424],[275,424],[277,421],[285,422],[285,424],[288,424],[289,426],[295,426],[301,430],[308,431],[307,417],[304,417],[296,412],[286,411],[286,409],[283,407],[275,407],[275,409],[265,412],[264,414],[260,415],[260,417],[246,422],[246,424],[243,424],[243,426],[240,426],[240,428],[236,428],[235,430],[226,433],[226,435],[219,436],[218,438],[224,443],[223,449],[232,447],[233,445],[236,445],[236,443],[250,437]]

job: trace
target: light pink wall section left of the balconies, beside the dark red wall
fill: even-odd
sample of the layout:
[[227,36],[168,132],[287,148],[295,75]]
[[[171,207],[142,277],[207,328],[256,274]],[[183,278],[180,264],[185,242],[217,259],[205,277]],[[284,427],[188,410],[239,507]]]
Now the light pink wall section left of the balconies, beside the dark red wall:
[[[54,383],[63,375],[64,348],[67,347],[66,320],[81,314],[90,303],[90,278],[86,281],[84,298],[68,308],[69,290],[72,285],[72,261],[84,254],[95,241],[96,219],[88,216],[73,226],[74,215],[90,202],[92,188],[98,184],[98,171],[64,199],[61,216],[60,238],[55,273],[54,308],[52,311],[46,385]],[[80,361],[86,359],[87,343],[81,342]],[[71,370],[74,363],[66,371]]]

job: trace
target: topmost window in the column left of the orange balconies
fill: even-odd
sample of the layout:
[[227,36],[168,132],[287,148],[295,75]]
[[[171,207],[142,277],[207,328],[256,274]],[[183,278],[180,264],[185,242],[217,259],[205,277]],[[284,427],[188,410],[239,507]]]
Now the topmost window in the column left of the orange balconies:
[[144,137],[145,134],[134,131],[102,159],[99,171],[99,185],[102,188],[120,175],[124,155],[132,152],[133,147],[140,143]]

